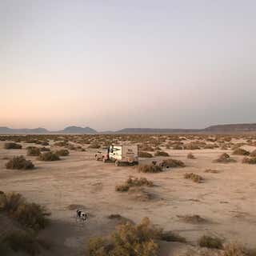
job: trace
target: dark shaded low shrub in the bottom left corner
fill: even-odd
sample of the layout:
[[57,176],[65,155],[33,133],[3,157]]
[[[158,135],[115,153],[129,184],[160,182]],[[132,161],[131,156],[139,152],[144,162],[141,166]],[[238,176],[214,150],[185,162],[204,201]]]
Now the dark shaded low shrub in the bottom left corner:
[[18,230],[14,231],[3,239],[3,242],[14,250],[14,252],[25,252],[31,256],[40,253],[40,242],[34,232]]

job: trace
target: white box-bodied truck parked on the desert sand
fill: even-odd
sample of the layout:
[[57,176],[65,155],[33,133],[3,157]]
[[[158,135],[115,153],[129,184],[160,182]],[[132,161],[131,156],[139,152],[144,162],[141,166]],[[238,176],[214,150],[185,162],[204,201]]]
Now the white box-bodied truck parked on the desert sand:
[[126,164],[138,164],[138,145],[111,145],[106,149],[105,154],[102,151],[98,151],[95,154],[95,159],[102,159],[103,162],[114,162],[116,166]]

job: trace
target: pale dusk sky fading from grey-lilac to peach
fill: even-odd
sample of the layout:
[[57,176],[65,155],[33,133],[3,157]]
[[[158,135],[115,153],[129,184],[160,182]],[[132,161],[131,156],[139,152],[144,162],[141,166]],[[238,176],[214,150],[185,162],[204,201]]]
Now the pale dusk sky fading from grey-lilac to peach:
[[256,1],[0,0],[0,126],[256,122]]

